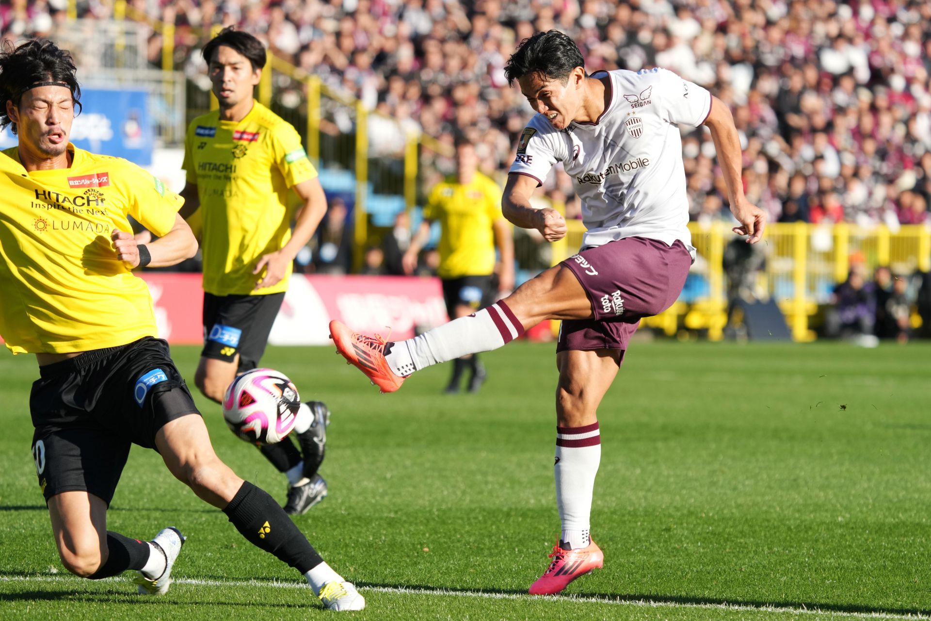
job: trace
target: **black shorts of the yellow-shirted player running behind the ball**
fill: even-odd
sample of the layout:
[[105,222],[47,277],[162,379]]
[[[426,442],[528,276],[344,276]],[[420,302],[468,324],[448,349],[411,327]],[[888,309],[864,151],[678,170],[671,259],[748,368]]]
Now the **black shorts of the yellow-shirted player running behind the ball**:
[[203,358],[233,362],[238,371],[255,369],[268,344],[285,294],[213,295],[204,293]]

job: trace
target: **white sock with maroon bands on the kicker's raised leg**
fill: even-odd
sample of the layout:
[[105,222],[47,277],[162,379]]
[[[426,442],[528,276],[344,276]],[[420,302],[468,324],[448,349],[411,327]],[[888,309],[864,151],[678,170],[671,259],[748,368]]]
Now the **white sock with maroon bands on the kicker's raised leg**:
[[392,344],[385,359],[391,371],[406,377],[439,362],[497,349],[523,332],[518,318],[502,300],[474,315],[453,319],[420,336]]

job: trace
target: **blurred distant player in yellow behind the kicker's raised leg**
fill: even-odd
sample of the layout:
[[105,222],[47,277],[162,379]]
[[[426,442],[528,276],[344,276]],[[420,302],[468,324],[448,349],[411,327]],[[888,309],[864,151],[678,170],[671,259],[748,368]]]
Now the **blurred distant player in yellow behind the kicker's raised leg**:
[[[495,247],[501,254],[497,289],[505,295],[514,289],[514,244],[511,225],[501,213],[501,188],[479,172],[479,157],[471,142],[456,142],[456,175],[430,192],[424,220],[404,253],[406,273],[416,269],[417,253],[430,238],[434,221],[440,224],[438,275],[451,319],[471,315],[493,302]],[[466,369],[471,371],[469,392],[478,392],[486,378],[478,355],[456,358],[452,364],[446,392],[459,392]]]

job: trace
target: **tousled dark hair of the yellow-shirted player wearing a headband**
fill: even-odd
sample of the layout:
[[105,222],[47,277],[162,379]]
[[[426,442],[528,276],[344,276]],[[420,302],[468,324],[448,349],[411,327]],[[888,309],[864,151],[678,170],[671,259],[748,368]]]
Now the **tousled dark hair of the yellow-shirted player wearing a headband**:
[[51,41],[32,40],[14,47],[7,43],[0,52],[0,128],[16,123],[7,115],[7,101],[20,105],[23,93],[40,82],[61,82],[71,90],[78,112],[81,110],[81,87],[74,77],[77,71],[71,53]]

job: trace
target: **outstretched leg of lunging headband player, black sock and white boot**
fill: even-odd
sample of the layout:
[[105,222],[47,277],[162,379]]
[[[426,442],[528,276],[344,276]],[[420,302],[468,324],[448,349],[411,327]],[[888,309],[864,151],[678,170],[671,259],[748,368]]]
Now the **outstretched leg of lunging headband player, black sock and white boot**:
[[324,562],[284,509],[268,493],[240,479],[220,461],[199,415],[182,416],[162,426],[155,435],[155,446],[171,474],[199,498],[223,509],[236,530],[252,545],[274,554],[303,574],[328,609],[365,607],[365,599],[356,588]]

